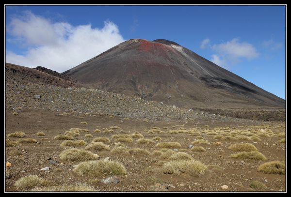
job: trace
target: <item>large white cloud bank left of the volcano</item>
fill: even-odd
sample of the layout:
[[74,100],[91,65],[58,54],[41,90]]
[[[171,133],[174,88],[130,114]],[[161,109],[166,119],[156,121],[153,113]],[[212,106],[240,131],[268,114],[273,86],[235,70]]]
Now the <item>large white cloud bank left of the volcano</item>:
[[109,48],[124,42],[118,27],[105,21],[102,29],[91,24],[72,26],[26,12],[13,18],[7,27],[13,39],[27,47],[24,55],[6,52],[6,62],[27,67],[44,66],[64,72]]

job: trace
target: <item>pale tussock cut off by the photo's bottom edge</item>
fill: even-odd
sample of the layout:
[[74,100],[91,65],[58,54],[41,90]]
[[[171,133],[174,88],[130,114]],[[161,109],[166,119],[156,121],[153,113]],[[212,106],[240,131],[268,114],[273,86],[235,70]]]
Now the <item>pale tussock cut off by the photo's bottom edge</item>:
[[31,190],[32,192],[95,192],[94,187],[86,183],[75,183],[70,185],[58,185],[50,187],[36,187]]

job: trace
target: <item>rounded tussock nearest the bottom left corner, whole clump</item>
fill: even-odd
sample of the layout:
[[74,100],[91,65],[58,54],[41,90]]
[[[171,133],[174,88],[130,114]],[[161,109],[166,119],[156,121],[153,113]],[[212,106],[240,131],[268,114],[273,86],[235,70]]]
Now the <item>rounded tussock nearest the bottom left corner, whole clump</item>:
[[45,187],[52,184],[51,181],[38,177],[37,175],[28,175],[15,182],[15,186],[20,190],[28,190],[33,187]]

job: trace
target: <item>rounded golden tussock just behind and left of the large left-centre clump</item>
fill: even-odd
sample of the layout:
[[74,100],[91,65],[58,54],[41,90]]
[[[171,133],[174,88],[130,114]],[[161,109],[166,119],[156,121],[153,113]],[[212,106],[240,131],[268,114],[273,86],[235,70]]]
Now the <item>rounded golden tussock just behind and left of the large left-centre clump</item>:
[[62,161],[88,161],[98,158],[97,154],[83,149],[67,149],[61,152],[59,156]]

